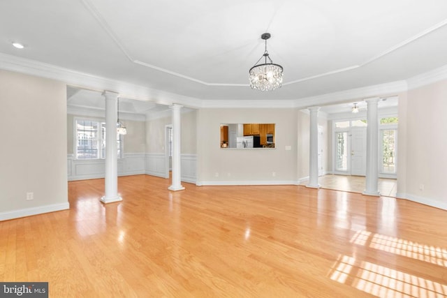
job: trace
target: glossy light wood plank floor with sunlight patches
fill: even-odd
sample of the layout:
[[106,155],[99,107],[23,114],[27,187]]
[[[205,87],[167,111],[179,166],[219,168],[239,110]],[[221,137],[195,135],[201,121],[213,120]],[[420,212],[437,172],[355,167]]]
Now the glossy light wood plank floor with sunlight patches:
[[68,183],[71,209],[0,223],[0,280],[50,297],[446,297],[447,211],[303,186]]

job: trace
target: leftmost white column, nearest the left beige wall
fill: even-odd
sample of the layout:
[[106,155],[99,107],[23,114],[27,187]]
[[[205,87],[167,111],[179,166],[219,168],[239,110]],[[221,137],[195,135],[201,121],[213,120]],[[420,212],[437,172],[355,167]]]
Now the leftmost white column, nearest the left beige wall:
[[117,100],[118,94],[104,91],[105,97],[105,195],[103,203],[122,201],[118,195]]

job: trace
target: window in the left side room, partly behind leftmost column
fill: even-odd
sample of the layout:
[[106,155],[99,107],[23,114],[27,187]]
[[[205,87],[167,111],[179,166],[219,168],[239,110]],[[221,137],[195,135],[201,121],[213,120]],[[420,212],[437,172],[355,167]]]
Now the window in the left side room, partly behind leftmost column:
[[[105,122],[77,119],[75,121],[75,158],[105,158]],[[117,134],[117,156],[122,158],[123,136]]]

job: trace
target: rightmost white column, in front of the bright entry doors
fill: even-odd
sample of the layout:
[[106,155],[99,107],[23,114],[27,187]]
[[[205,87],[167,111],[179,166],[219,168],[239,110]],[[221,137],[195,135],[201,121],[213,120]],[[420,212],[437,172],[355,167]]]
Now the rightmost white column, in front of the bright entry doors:
[[365,99],[367,103],[366,128],[366,183],[364,195],[379,193],[379,98]]

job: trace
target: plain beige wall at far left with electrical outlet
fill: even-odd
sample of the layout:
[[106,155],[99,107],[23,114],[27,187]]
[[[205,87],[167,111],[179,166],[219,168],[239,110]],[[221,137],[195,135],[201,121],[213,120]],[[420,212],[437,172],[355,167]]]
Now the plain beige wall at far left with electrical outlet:
[[66,85],[0,70],[0,103],[0,215],[68,206]]

